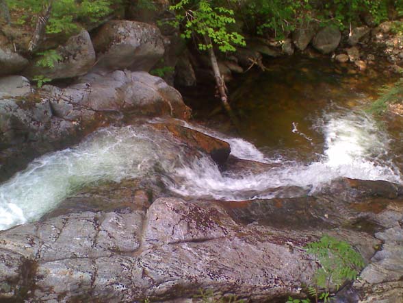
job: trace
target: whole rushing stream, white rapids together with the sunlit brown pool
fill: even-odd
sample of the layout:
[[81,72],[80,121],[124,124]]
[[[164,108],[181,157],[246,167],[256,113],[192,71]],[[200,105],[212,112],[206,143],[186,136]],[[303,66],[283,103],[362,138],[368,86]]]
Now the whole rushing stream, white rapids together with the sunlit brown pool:
[[[339,85],[337,79],[331,83]],[[342,97],[338,96],[337,103],[323,101],[321,96],[328,96],[332,87],[322,86],[322,95],[307,109],[307,100],[313,96],[305,88],[299,94],[294,91],[292,98],[283,100],[284,108],[291,114],[281,108],[272,112],[272,106],[278,106],[276,102],[268,104],[267,97],[257,98],[260,101],[252,108],[259,112],[255,114],[259,125],[252,125],[250,118],[244,121],[243,133],[249,140],[255,138],[257,146],[242,138],[181,122],[227,141],[231,154],[237,158],[267,164],[263,173],[220,171],[209,156],[189,156],[186,147],[147,124],[98,130],[75,147],[37,158],[0,185],[0,230],[39,219],[83,186],[156,173],[170,191],[184,197],[235,201],[275,197],[276,189],[283,186],[300,186],[312,193],[341,176],[402,183],[395,136],[361,109],[360,102],[365,98],[362,94],[354,95],[348,89]],[[242,93],[240,96],[245,99]],[[302,100],[303,97],[306,99]],[[270,110],[261,109],[264,102]],[[238,104],[241,111],[242,102]],[[250,114],[254,109],[244,110]],[[261,114],[268,117],[259,117]],[[266,126],[262,126],[263,122]],[[254,132],[259,134],[253,136]]]

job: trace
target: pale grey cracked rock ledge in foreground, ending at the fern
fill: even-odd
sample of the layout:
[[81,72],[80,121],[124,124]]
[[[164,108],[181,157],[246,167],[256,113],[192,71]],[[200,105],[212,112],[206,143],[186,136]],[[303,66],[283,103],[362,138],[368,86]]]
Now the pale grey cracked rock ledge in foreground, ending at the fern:
[[309,283],[318,265],[300,247],[312,240],[177,198],[147,213],[62,215],[0,234],[0,300],[155,302],[202,288],[263,302]]

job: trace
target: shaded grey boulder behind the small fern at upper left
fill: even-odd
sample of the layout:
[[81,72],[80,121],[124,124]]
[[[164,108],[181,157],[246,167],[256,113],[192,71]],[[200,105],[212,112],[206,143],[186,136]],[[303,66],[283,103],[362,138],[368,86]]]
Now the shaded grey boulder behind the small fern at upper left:
[[57,47],[56,52],[62,60],[55,62],[53,68],[38,66],[38,58],[24,71],[27,77],[43,75],[51,79],[62,79],[85,75],[95,63],[95,51],[90,34],[86,30],[68,38],[64,45]]

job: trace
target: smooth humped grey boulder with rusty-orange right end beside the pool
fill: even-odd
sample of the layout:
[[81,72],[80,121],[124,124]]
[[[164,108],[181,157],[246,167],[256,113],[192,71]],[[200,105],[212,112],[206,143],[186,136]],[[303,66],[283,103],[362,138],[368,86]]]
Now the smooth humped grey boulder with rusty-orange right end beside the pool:
[[64,99],[96,111],[122,111],[136,117],[187,119],[190,109],[181,94],[160,77],[145,72],[92,73],[61,91]]

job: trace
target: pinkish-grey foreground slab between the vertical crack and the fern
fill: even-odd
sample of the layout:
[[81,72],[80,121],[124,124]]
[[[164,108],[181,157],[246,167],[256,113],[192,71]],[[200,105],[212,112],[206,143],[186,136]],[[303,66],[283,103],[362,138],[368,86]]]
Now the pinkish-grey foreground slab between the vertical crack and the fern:
[[[148,269],[148,277],[160,285],[151,292],[154,296],[174,299],[172,288],[181,289],[177,297],[189,298],[192,290],[185,285],[222,293],[237,289],[237,295],[254,302],[298,293],[296,281],[304,280],[315,269],[297,248],[307,237],[298,241],[294,235],[288,239],[265,237],[258,236],[257,230],[239,226],[218,206],[158,199],[148,210],[144,245],[149,248],[140,257],[140,263]],[[285,243],[297,247],[289,250]],[[286,261],[291,255],[299,260],[298,265]],[[276,260],[276,265],[271,260]],[[286,270],[279,270],[278,265],[285,263]],[[291,274],[294,267],[304,272],[294,271],[298,274],[291,282],[289,275],[294,275]],[[181,282],[183,277],[186,280]]]

